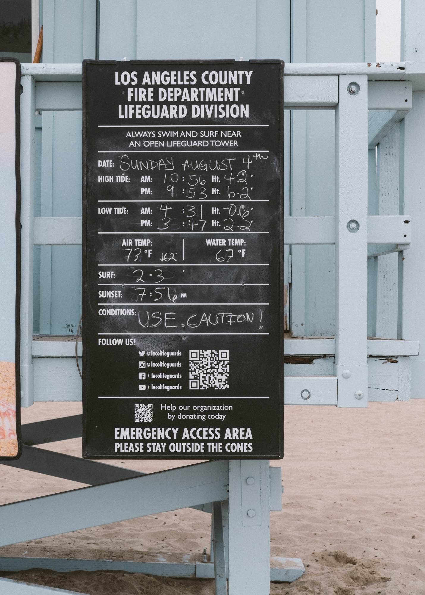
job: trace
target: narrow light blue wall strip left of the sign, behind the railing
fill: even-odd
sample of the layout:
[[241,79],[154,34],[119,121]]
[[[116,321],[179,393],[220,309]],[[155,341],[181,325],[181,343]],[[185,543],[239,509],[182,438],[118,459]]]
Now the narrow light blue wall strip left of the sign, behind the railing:
[[[95,58],[96,0],[44,0],[43,62]],[[82,113],[43,112],[36,215],[82,215]],[[80,246],[35,252],[34,331],[75,334],[81,314]]]

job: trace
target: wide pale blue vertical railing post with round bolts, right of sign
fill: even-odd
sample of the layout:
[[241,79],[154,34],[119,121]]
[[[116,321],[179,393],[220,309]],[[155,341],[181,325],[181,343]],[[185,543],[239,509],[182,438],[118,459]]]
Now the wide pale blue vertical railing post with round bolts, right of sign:
[[367,406],[367,76],[339,77],[335,192],[337,406]]

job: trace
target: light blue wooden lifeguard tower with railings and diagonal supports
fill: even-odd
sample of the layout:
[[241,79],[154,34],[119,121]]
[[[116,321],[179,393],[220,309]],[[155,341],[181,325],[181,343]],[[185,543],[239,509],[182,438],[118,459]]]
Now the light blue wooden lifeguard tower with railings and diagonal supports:
[[[81,63],[123,57],[285,60],[285,404],[423,397],[423,2],[402,2],[395,63],[375,60],[372,0],[32,4],[43,54],[21,66],[21,406],[81,399]],[[269,512],[282,508],[282,483],[268,461],[140,475],[39,449],[47,430],[52,440],[76,437],[80,419],[23,427],[34,446],[2,473],[12,465],[90,487],[0,507],[0,546],[193,506],[211,514],[211,551],[179,563],[0,557],[1,571],[214,577],[217,595],[227,579],[230,595],[265,595],[270,580],[304,573],[299,559],[270,565]]]

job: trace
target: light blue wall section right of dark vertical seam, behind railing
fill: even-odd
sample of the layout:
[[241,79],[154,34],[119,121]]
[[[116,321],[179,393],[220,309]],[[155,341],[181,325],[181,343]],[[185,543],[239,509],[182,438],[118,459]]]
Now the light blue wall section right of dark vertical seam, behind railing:
[[[375,58],[374,0],[292,0],[292,62]],[[291,214],[335,212],[335,111],[294,111]],[[295,337],[335,334],[335,249],[292,247],[291,328]]]

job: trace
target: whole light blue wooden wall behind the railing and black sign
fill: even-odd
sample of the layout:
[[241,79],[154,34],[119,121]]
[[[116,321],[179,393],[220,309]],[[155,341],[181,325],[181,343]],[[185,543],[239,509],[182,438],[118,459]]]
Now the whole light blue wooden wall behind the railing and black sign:
[[[374,0],[99,0],[97,18],[101,59],[374,59]],[[96,57],[96,0],[43,0],[42,24],[44,62]],[[290,163],[285,152],[285,214],[332,215],[335,113],[296,111],[285,118],[292,155]],[[42,114],[39,215],[81,215],[81,128],[80,112]],[[293,334],[332,335],[333,247],[294,246],[292,260]],[[79,247],[36,250],[34,304],[35,333],[75,333]]]

